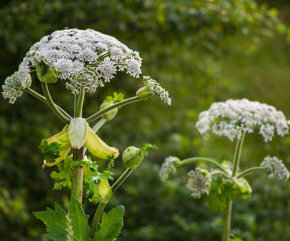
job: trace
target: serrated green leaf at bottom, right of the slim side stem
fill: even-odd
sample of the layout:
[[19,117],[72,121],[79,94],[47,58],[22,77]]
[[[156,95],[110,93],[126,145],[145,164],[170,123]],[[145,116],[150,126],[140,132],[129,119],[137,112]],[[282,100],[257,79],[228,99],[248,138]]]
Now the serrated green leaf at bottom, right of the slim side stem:
[[103,212],[101,226],[97,229],[94,241],[113,241],[121,233],[123,227],[124,206],[111,209],[108,213]]

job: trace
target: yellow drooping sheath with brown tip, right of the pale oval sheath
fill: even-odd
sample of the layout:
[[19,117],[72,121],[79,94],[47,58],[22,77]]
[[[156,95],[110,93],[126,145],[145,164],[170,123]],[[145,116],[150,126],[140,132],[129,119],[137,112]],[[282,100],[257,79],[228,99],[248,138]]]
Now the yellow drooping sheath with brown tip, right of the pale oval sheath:
[[102,141],[97,134],[92,130],[88,125],[88,137],[85,142],[85,146],[88,148],[88,151],[92,153],[95,157],[102,159],[107,159],[107,156],[114,155],[114,158],[117,158],[119,155],[119,150],[115,147],[110,147],[104,141]]

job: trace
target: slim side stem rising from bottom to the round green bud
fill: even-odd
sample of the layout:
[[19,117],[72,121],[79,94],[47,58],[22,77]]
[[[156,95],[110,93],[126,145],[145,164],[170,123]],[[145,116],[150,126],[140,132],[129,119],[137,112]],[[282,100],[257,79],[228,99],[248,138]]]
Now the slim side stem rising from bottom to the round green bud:
[[[130,170],[129,168],[123,173],[122,176],[120,176],[120,178],[113,184],[113,186],[111,187],[112,192],[115,192],[116,189],[122,184],[122,182],[130,175],[130,173],[132,172],[132,170]],[[99,221],[101,219],[103,210],[105,208],[104,203],[100,202],[99,207],[95,213],[95,217],[93,219],[92,222],[92,226],[90,228],[90,233],[89,233],[89,238],[90,239],[94,239],[95,237],[95,233],[97,231],[97,228],[99,226]]]

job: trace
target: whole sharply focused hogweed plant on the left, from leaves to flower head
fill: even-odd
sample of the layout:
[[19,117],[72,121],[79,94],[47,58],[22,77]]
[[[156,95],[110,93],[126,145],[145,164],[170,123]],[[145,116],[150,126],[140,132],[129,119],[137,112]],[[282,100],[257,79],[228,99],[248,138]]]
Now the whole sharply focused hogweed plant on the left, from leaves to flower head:
[[[83,118],[82,107],[85,93],[97,91],[104,83],[110,82],[118,71],[126,71],[138,78],[141,74],[141,60],[138,52],[132,51],[116,38],[91,29],[66,28],[35,43],[19,70],[6,78],[2,94],[10,103],[13,104],[23,91],[27,91],[48,104],[65,124],[61,132],[40,143],[41,152],[44,153],[43,167],[57,166],[57,171],[50,174],[51,178],[60,180],[54,184],[54,189],[71,189],[68,212],[57,203],[55,210],[47,208],[46,211],[34,212],[46,224],[48,233],[44,236],[47,238],[58,241],[117,239],[123,227],[124,207],[118,206],[108,213],[103,212],[104,207],[113,192],[139,166],[144,155],[147,156],[147,149],[157,147],[148,143],[142,148],[128,147],[122,155],[127,170],[110,186],[109,181],[113,181],[110,168],[119,151],[104,143],[96,132],[111,121],[118,108],[125,104],[146,100],[152,95],[158,95],[167,105],[171,104],[171,100],[168,92],[155,80],[144,76],[144,86],[137,91],[136,96],[124,100],[123,94],[115,92],[113,96],[107,96],[100,110],[88,118]],[[44,96],[32,90],[32,73],[41,82]],[[48,90],[49,85],[58,79],[66,80],[66,87],[74,94],[73,117],[55,104]],[[90,127],[90,123],[98,118],[100,120]],[[97,162],[85,155],[87,150],[95,157],[109,160],[108,168],[100,171]],[[81,206],[83,201],[99,203],[90,228],[88,215],[84,214]]]

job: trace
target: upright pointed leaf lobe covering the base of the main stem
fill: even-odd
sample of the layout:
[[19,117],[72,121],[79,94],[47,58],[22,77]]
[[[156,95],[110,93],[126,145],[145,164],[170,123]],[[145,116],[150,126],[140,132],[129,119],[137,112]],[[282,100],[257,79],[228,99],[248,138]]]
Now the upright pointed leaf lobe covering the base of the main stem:
[[74,196],[71,197],[69,212],[71,216],[71,222],[73,225],[74,238],[78,241],[88,241],[90,228],[88,226],[89,215],[85,215],[81,203],[76,200]]

